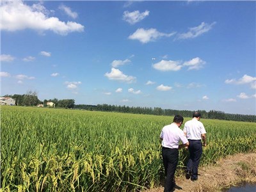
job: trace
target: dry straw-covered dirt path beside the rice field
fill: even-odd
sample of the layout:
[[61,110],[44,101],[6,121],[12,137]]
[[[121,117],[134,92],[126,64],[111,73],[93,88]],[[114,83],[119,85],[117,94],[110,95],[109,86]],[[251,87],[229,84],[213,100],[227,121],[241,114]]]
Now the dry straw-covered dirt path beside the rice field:
[[[221,159],[216,166],[199,168],[198,180],[191,181],[182,177],[176,178],[174,191],[221,191],[231,185],[246,182],[256,182],[256,152],[250,154],[236,154]],[[164,188],[148,189],[145,192],[163,192]]]

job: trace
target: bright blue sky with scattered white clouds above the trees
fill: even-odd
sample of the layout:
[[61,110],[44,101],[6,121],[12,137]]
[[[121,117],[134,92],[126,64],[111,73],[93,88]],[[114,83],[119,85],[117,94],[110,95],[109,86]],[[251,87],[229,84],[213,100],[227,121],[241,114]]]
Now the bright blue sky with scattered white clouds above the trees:
[[1,96],[256,115],[255,1],[2,1]]

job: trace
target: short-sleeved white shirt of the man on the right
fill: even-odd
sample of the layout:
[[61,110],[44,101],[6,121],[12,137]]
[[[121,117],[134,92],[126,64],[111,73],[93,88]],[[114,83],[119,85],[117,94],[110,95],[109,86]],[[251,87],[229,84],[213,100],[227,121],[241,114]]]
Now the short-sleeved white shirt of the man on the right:
[[183,131],[186,132],[188,140],[201,140],[201,134],[206,133],[204,124],[196,118],[186,122]]

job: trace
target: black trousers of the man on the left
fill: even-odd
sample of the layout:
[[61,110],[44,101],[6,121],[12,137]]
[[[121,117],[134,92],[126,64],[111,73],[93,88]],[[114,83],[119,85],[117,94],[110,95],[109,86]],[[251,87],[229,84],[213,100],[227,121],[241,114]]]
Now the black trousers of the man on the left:
[[164,192],[169,192],[174,188],[174,174],[179,161],[179,151],[177,148],[162,148],[164,173],[166,176]]

